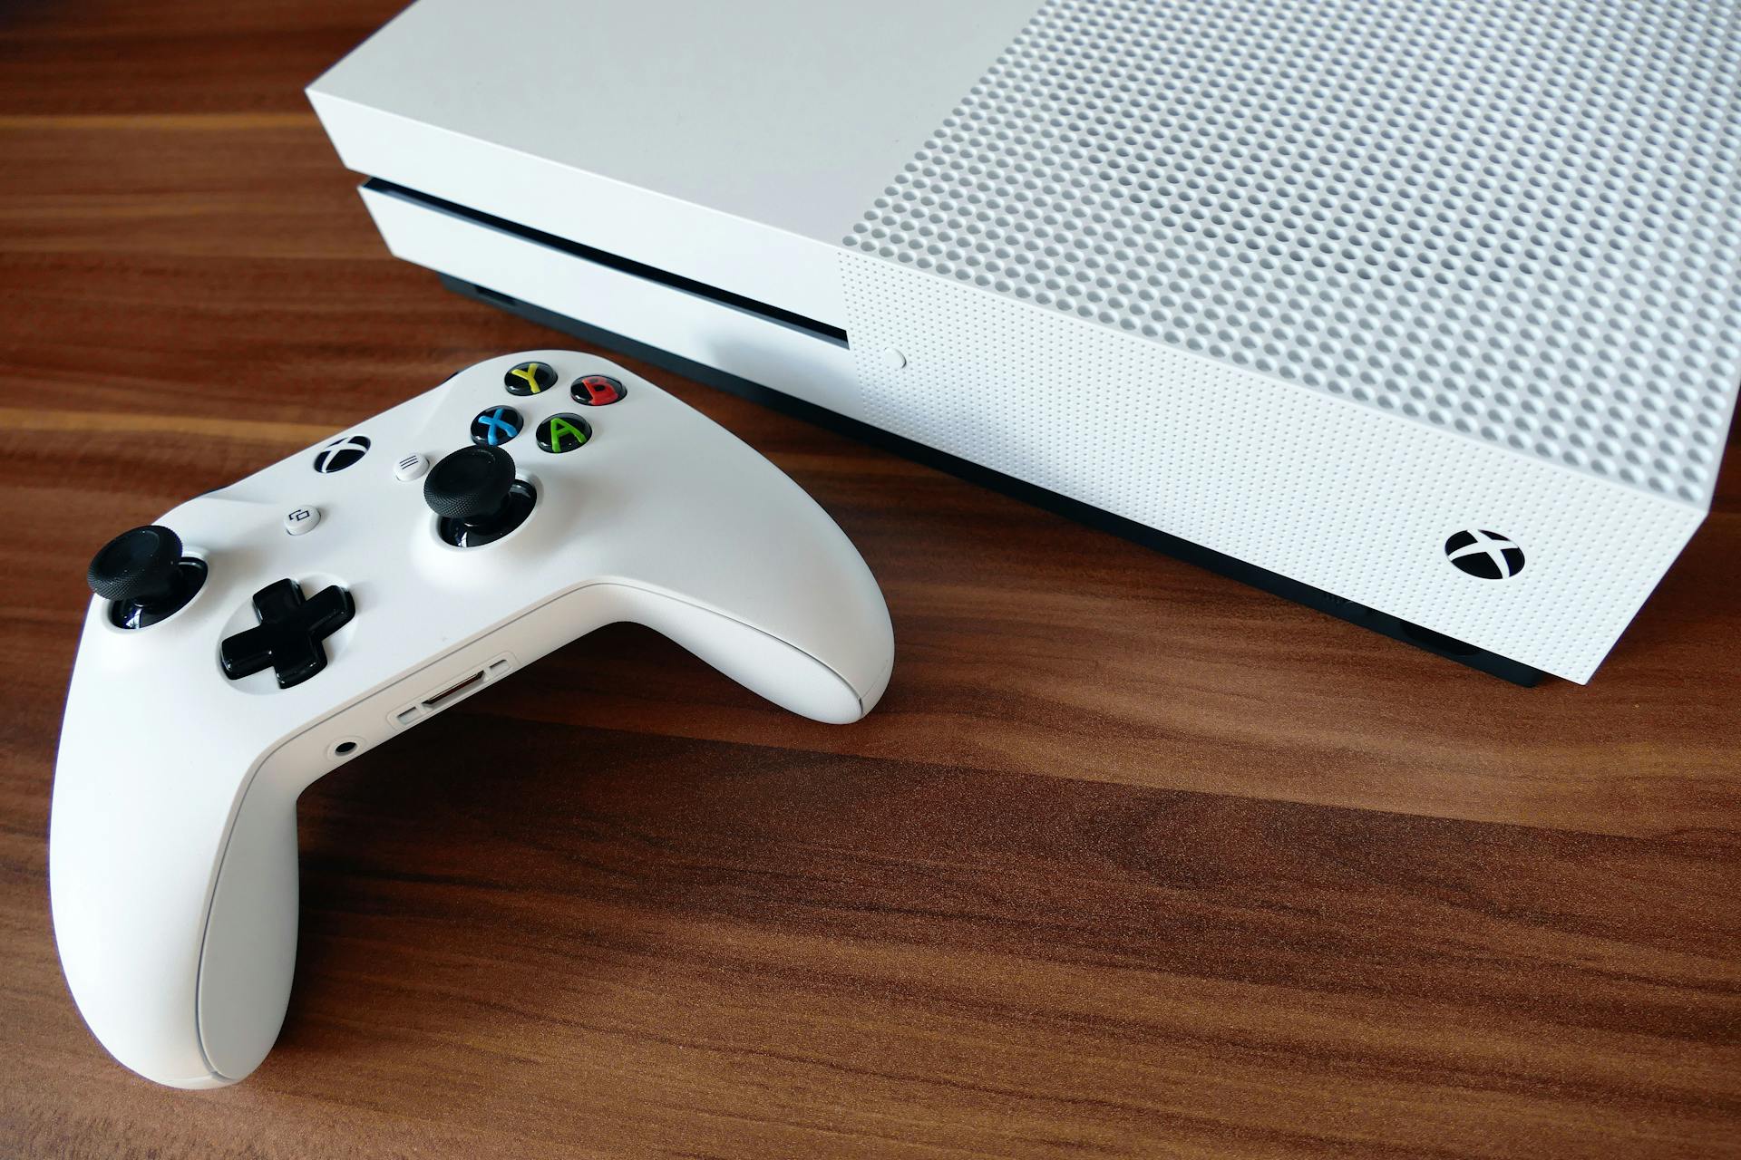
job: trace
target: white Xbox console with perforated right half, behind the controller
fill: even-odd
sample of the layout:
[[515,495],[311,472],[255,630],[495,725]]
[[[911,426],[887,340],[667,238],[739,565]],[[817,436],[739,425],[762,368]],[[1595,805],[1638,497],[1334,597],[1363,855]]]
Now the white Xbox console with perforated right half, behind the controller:
[[418,0],[308,92],[456,289],[1583,682],[1741,381],[1738,52],[1736,0]]

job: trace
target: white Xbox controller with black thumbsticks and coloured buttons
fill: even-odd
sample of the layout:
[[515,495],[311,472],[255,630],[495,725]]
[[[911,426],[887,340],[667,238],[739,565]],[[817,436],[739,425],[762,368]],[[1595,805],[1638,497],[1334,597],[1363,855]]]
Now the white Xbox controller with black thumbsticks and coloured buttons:
[[336,765],[615,621],[823,722],[870,711],[895,661],[870,570],[810,496],[575,351],[468,367],[118,536],[89,579],[54,934],[96,1037],[174,1087],[272,1049],[296,798]]

